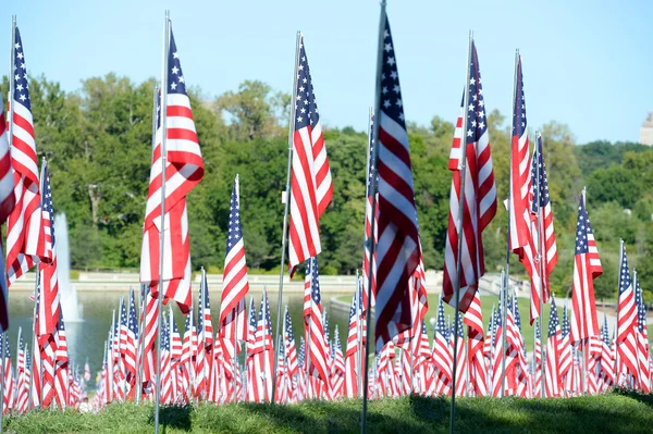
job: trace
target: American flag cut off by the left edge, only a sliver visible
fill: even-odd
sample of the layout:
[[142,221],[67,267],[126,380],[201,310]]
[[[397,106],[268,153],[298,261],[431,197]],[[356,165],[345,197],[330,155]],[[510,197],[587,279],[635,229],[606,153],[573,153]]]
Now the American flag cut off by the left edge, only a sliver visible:
[[[15,206],[13,170],[9,152],[9,133],[4,122],[4,104],[0,95],[0,225],[4,224]],[[9,328],[9,293],[4,270],[4,252],[0,245],[0,333]]]

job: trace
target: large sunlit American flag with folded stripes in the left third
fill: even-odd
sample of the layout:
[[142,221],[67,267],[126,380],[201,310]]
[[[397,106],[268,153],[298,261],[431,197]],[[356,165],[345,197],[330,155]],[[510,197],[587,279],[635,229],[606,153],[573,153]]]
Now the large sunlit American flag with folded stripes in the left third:
[[[170,30],[168,71],[162,78],[167,96],[167,153],[165,165],[165,215],[161,219],[161,113],[158,115],[156,146],[152,150],[152,166],[145,212],[143,249],[140,256],[140,282],[148,284],[157,297],[159,281],[164,283],[164,297],[174,299],[182,312],[190,309],[190,241],[186,195],[201,181],[204,162],[190,100],[186,92],[186,80]],[[161,110],[159,104],[159,111]],[[160,231],[164,231],[163,276],[159,276]]]

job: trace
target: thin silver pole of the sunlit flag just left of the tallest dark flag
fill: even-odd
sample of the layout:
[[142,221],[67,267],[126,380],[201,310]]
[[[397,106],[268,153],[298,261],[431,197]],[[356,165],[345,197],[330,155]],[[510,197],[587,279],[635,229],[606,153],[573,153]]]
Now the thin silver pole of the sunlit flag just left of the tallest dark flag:
[[[283,211],[283,235],[281,238],[281,270],[279,271],[279,296],[276,300],[276,332],[279,332],[279,320],[281,317],[281,303],[283,302],[283,270],[285,264],[286,239],[288,237],[288,209],[291,206],[291,172],[293,168],[293,136],[295,133],[295,99],[297,96],[297,69],[299,67],[299,47],[301,44],[301,32],[297,32],[297,41],[295,46],[295,69],[293,70],[293,99],[291,101],[291,117],[288,119],[288,165],[286,175],[286,189],[282,194],[284,202]],[[279,343],[276,343],[279,348]],[[276,372],[276,355],[274,356],[274,371]],[[276,375],[272,375],[272,389],[276,386]],[[274,404],[274,394],[272,394],[272,404]]]

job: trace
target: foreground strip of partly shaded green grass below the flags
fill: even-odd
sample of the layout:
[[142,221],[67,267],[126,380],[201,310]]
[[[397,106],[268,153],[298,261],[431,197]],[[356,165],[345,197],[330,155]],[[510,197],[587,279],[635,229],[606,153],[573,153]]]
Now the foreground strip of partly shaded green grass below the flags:
[[[650,433],[653,395],[613,393],[571,399],[459,398],[456,432]],[[151,433],[152,406],[111,405],[99,414],[35,411],[5,418],[5,433]],[[360,401],[296,406],[237,404],[163,408],[162,433],[357,433]],[[371,401],[370,433],[446,433],[448,398]]]

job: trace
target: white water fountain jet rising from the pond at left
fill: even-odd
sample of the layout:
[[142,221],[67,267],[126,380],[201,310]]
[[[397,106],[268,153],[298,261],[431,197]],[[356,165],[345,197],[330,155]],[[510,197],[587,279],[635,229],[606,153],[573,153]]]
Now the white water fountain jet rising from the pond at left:
[[71,285],[71,249],[69,246],[67,221],[65,214],[54,216],[57,240],[57,280],[63,320],[66,324],[83,321],[83,306],[77,300],[77,289]]

